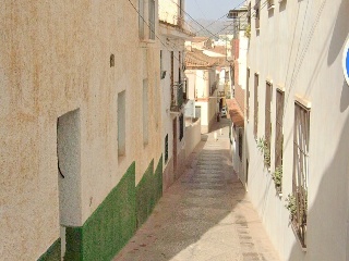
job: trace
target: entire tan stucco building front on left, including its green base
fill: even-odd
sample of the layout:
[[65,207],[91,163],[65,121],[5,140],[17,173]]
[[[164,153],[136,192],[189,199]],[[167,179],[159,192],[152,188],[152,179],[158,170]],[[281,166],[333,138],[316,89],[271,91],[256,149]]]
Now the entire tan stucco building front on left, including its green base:
[[163,192],[157,1],[4,1],[0,259],[110,260]]

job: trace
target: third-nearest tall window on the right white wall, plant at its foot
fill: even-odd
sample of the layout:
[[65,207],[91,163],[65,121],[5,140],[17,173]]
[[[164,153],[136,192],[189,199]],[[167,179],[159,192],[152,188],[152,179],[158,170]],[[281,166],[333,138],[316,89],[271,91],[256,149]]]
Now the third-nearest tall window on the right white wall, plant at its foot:
[[266,83],[265,89],[265,145],[264,159],[266,166],[270,167],[270,141],[272,141],[272,84]]

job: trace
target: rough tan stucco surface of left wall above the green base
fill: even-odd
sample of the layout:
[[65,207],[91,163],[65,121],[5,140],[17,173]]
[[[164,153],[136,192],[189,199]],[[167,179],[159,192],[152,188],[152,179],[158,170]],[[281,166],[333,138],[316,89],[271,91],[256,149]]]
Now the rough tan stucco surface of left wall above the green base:
[[[0,17],[0,259],[35,260],[59,237],[59,116],[80,109],[80,225],[133,161],[136,183],[151,160],[158,161],[159,51],[140,42],[137,14],[128,1],[4,1]],[[145,147],[144,78],[149,83]],[[118,158],[122,90],[127,152]]]

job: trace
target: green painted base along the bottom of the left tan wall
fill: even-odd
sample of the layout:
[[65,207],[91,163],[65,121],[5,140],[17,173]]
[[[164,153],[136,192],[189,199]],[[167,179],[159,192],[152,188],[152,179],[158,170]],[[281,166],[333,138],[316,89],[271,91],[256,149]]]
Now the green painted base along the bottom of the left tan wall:
[[[119,184],[83,226],[65,227],[67,261],[109,261],[134,235],[163,196],[163,157],[154,171],[154,160],[135,187],[133,162]],[[59,254],[59,256],[58,256]],[[60,260],[60,239],[40,261]]]

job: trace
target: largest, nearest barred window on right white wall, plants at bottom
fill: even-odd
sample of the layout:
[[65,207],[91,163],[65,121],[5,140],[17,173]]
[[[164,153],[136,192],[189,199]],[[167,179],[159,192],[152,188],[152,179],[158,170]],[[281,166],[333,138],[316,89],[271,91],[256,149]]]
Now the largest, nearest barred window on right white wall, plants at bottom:
[[310,109],[296,101],[292,196],[296,199],[297,208],[296,213],[292,215],[292,224],[298,237],[300,238],[302,247],[305,247],[308,212],[309,128]]

